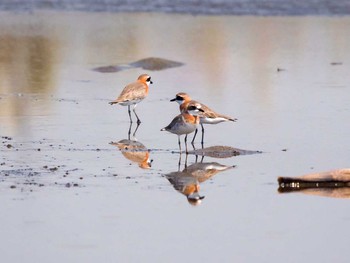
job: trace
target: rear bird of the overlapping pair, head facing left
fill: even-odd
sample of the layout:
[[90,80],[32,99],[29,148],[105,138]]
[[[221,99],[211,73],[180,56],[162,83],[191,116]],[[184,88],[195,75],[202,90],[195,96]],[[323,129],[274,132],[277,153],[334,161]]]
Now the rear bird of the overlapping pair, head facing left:
[[[204,144],[204,127],[203,123],[205,124],[218,124],[220,122],[224,121],[232,121],[235,122],[237,121],[236,118],[231,118],[229,116],[219,114],[212,109],[210,109],[208,106],[204,105],[203,103],[200,103],[198,101],[192,100],[191,97],[184,92],[180,92],[176,94],[176,97],[170,101],[176,101],[177,103],[180,104],[180,112],[185,112],[188,107],[191,107],[192,105],[200,105],[200,108],[202,109],[202,112],[200,113],[200,125],[202,126],[202,141],[201,144],[203,146]],[[192,144],[194,143],[194,139],[196,138],[198,130],[196,129],[193,139],[192,139]]]

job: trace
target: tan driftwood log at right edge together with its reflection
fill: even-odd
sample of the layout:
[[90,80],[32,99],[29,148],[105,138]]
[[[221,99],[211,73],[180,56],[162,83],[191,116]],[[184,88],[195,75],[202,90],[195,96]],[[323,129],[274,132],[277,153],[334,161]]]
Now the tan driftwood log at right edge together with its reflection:
[[300,192],[333,198],[350,198],[350,169],[307,174],[300,177],[279,177],[278,192]]

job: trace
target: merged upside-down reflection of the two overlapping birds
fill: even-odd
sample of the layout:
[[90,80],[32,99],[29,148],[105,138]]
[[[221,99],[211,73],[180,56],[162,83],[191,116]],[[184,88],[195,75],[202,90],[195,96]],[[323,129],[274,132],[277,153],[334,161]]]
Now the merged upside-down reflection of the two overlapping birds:
[[204,198],[204,196],[199,194],[200,184],[217,173],[233,167],[216,162],[194,163],[186,167],[182,172],[172,172],[165,176],[178,192],[187,197],[190,204],[198,205]]

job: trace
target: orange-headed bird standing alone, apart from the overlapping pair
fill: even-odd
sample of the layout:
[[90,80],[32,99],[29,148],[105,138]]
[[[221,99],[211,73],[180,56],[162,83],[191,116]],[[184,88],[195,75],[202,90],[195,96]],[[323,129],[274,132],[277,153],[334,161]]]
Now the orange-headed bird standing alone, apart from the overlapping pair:
[[141,121],[136,114],[135,108],[140,101],[147,97],[149,84],[152,83],[151,77],[148,74],[142,74],[135,82],[128,84],[120,93],[119,97],[109,102],[109,104],[128,106],[130,122],[132,122],[130,106],[134,105],[133,112],[137,118],[137,123],[140,124]]

